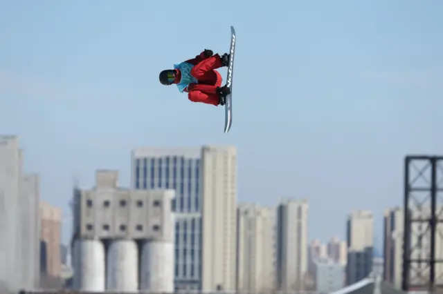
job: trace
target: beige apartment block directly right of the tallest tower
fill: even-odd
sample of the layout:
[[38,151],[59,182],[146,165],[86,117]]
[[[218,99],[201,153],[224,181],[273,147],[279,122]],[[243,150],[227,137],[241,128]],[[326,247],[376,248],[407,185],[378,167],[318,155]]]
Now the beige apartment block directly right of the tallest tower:
[[237,291],[275,289],[275,210],[256,204],[237,209]]

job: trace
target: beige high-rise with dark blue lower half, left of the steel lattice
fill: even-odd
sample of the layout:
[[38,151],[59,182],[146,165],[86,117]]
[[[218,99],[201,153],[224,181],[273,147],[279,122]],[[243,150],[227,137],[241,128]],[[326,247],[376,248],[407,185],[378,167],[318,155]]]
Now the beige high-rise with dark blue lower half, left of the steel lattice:
[[374,217],[368,210],[355,210],[347,218],[347,285],[368,277],[372,271]]

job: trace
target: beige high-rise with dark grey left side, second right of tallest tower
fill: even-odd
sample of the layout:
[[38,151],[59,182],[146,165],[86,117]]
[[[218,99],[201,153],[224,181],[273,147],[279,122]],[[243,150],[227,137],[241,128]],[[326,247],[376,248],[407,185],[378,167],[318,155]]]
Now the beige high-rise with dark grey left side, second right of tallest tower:
[[277,287],[301,291],[307,280],[307,199],[284,199],[277,208]]

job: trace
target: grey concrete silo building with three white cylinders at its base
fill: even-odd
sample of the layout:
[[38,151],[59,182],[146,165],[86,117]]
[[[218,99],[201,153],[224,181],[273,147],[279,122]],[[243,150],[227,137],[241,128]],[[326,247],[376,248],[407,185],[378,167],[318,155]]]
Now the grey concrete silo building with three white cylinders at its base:
[[120,188],[115,170],[98,170],[91,190],[76,189],[74,288],[173,292],[173,198],[174,190]]

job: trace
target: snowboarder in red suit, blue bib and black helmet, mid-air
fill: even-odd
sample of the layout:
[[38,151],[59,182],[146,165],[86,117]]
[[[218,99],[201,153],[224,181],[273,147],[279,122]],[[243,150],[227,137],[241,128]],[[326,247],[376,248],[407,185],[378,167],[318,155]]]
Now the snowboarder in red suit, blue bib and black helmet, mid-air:
[[176,84],[180,92],[188,92],[192,102],[224,106],[230,88],[221,87],[221,75],[216,69],[228,66],[229,57],[228,53],[214,55],[212,50],[205,49],[194,59],[174,64],[173,70],[160,72],[160,83]]

